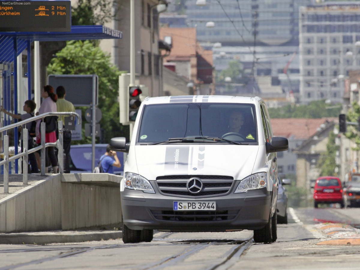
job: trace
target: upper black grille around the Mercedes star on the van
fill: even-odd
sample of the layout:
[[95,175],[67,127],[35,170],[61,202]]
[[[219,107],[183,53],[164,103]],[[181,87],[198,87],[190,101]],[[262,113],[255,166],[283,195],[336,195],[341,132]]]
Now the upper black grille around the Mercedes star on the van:
[[[198,177],[201,179],[203,187],[199,193],[191,193],[186,187],[189,179]],[[156,178],[158,189],[163,195],[177,197],[212,197],[224,195],[229,192],[233,185],[233,177],[218,175],[171,175]]]

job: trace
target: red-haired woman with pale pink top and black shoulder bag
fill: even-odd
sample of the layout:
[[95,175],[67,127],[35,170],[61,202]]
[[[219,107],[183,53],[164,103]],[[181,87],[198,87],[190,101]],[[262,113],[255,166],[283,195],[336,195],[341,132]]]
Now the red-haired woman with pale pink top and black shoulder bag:
[[[44,98],[42,101],[39,112],[36,115],[47,113],[47,112],[57,112],[56,102],[58,100],[57,94],[54,93],[54,88],[51,85],[45,85],[41,91],[41,96]],[[36,123],[36,143],[41,143],[40,135],[40,122],[41,119],[37,120]],[[45,133],[45,143],[55,143],[56,142],[56,132]],[[45,173],[48,172],[48,167],[51,163],[53,171],[56,174],[58,172],[58,159],[55,156],[54,147],[46,147],[45,150]]]

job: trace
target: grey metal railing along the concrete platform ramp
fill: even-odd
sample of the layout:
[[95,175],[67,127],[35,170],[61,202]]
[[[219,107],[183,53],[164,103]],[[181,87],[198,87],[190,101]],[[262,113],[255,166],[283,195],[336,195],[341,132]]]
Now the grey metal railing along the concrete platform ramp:
[[[80,115],[76,112],[48,112],[43,113],[31,118],[28,118],[26,120],[1,127],[0,132],[13,129],[15,127],[24,125],[26,123],[32,122],[34,120],[43,119],[46,116],[76,116],[77,117],[77,123],[78,125],[81,125],[81,118]],[[64,172],[64,149],[63,149],[63,122],[58,122],[58,129],[59,129],[59,139],[56,141],[56,143],[45,143],[45,122],[40,123],[40,134],[41,134],[41,144],[37,147],[34,147],[30,150],[28,150],[28,132],[25,125],[25,128],[23,129],[23,148],[21,149],[21,153],[18,153],[12,157],[9,157],[9,136],[4,135],[3,140],[3,149],[4,149],[4,159],[0,161],[0,166],[4,165],[4,193],[9,193],[9,163],[11,161],[15,161],[18,158],[23,158],[23,184],[27,185],[28,180],[28,155],[31,153],[34,153],[38,150],[41,150],[41,170],[40,174],[45,175],[45,148],[49,146],[55,146],[58,148],[58,161],[59,161],[59,173],[62,174]],[[15,145],[15,148],[17,145]],[[16,153],[16,152],[15,152]],[[56,173],[56,172],[55,172]]]

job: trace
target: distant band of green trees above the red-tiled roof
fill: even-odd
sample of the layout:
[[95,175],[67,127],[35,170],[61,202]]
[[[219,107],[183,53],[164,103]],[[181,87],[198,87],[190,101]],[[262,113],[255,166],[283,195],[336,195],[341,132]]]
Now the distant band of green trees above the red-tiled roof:
[[286,105],[281,108],[269,108],[271,118],[322,118],[338,117],[342,105],[329,105],[325,100],[316,100],[309,105]]

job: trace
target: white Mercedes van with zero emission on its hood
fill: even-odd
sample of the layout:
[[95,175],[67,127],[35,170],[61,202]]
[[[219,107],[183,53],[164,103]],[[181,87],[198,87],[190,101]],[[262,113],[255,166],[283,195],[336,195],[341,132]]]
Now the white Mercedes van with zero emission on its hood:
[[153,230],[253,230],[274,242],[276,152],[264,100],[240,96],[162,96],[140,106],[121,181],[124,243],[150,242]]

